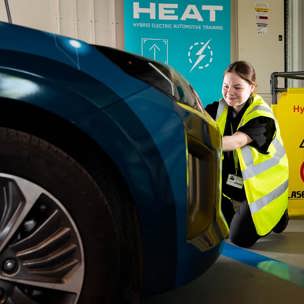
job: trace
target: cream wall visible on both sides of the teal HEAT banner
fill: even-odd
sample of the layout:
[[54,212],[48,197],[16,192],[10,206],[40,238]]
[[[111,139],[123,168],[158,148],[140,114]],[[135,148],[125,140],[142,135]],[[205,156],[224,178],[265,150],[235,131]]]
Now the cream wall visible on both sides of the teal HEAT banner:
[[[8,1],[16,24],[123,48],[124,0]],[[304,69],[303,2],[289,1],[289,70]],[[245,59],[255,66],[258,93],[270,101],[270,75],[284,71],[284,41],[278,41],[278,35],[284,38],[284,0],[231,0],[231,3],[231,59]],[[269,5],[269,24],[264,35],[257,32],[256,3]],[[4,0],[0,0],[0,20],[7,21]]]

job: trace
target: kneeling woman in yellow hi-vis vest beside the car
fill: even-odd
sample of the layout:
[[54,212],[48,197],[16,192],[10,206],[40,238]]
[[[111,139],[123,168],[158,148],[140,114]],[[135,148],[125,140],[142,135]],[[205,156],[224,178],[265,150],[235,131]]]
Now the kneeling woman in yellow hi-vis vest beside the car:
[[234,62],[223,99],[206,107],[223,135],[222,211],[231,241],[243,247],[288,224],[288,160],[273,112],[255,88],[252,65]]

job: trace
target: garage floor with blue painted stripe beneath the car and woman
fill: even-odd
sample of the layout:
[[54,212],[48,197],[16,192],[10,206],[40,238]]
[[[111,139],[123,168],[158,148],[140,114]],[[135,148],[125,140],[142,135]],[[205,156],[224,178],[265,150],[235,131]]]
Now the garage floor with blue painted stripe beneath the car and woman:
[[225,243],[222,256],[189,285],[145,304],[303,303],[304,220],[290,220],[250,250]]

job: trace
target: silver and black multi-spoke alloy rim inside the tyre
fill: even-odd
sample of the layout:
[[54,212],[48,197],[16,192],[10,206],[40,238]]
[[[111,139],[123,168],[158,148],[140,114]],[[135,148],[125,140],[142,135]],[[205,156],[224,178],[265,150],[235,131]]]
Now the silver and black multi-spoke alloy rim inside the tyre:
[[0,304],[75,304],[84,279],[80,234],[51,193],[0,173]]

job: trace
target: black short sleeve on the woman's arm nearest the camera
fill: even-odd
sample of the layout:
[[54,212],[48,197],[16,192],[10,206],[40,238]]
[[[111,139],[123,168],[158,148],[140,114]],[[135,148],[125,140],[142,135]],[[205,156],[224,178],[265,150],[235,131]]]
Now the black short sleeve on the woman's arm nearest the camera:
[[239,131],[246,133],[253,141],[249,144],[266,154],[275,135],[276,127],[272,118],[260,116],[248,121]]

